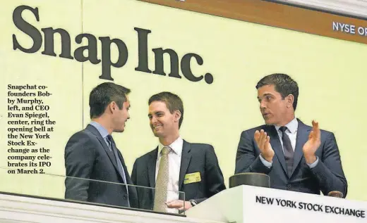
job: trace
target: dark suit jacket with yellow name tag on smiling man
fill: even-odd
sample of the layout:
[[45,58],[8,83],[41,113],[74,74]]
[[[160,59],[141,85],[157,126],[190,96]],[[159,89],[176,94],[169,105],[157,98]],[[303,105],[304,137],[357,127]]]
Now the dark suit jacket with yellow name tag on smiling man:
[[[158,147],[136,159],[131,179],[138,186],[155,188],[155,165]],[[200,172],[201,181],[183,184],[185,174]],[[207,144],[190,144],[183,141],[179,191],[185,192],[185,200],[195,199],[198,203],[226,189],[214,148]],[[154,192],[150,189],[137,189],[139,208],[152,210]],[[183,200],[182,197],[180,199]]]

